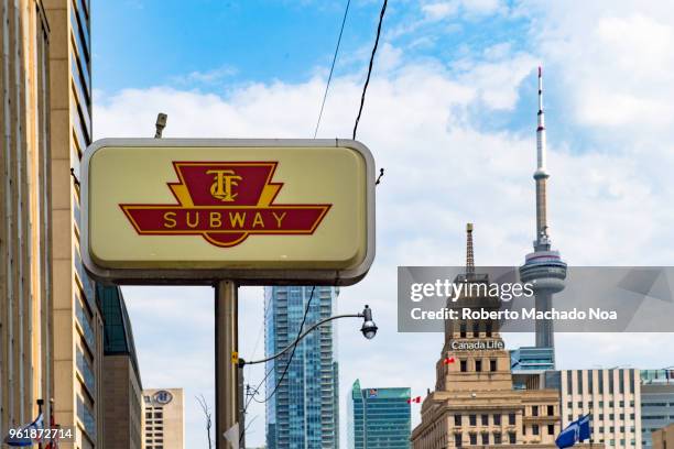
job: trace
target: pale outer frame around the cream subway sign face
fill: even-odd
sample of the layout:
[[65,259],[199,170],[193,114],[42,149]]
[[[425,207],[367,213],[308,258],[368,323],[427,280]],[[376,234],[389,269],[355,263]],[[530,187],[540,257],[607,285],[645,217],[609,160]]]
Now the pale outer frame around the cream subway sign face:
[[[367,172],[367,249],[360,265],[352,270],[172,270],[107,269],[98,266],[89,254],[89,162],[102,147],[347,147],[366,161]],[[362,143],[350,139],[100,139],[91,143],[81,158],[80,248],[87,272],[97,281],[120,285],[213,285],[228,280],[239,285],[352,285],[365,277],[374,261],[374,158]]]

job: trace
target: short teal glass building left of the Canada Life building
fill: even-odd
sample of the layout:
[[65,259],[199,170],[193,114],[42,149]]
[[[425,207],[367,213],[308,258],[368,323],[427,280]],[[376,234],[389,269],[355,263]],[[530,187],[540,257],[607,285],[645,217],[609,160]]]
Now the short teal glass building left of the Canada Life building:
[[361,388],[354,382],[348,405],[349,449],[409,449],[410,388]]

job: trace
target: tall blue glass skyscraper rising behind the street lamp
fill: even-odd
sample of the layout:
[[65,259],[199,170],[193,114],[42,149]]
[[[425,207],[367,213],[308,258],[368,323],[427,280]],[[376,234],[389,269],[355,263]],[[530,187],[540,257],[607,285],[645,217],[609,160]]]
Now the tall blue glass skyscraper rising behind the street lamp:
[[[264,289],[264,349],[283,350],[297,337],[313,287],[276,286]],[[304,324],[307,329],[334,315],[338,289],[315,287]],[[268,449],[337,449],[339,447],[339,384],[333,322],[309,333],[295,350],[267,363]]]

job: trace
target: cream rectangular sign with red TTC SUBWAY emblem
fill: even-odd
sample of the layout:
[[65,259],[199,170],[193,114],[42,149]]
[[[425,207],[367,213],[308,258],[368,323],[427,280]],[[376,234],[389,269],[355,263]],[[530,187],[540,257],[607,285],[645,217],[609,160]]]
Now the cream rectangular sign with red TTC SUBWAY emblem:
[[352,140],[105,139],[81,205],[99,281],[350,285],[374,258],[374,163]]

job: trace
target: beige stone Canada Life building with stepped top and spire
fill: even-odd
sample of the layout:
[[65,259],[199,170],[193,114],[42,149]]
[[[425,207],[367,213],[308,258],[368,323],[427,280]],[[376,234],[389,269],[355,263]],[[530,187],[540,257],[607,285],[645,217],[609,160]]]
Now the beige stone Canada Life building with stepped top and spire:
[[[455,283],[486,283],[472,261],[472,225],[467,227],[466,273]],[[498,310],[500,299],[463,296],[448,308]],[[483,343],[483,344],[478,344]],[[457,348],[485,348],[480,350]],[[517,390],[498,321],[446,320],[445,342],[436,363],[435,391],[422,403],[422,420],[412,431],[412,448],[496,446],[554,448],[559,434],[559,393],[552,388]]]

